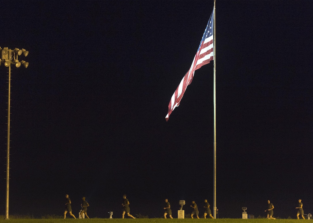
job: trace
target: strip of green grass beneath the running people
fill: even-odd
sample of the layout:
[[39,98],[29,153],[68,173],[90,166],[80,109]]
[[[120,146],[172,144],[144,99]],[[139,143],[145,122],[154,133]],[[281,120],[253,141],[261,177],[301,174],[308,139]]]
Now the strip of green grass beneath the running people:
[[[277,223],[299,223],[302,221],[312,220],[297,220],[297,219],[230,219],[230,218],[220,218],[220,219],[163,219],[163,218],[137,218],[137,219],[108,219],[108,218],[91,218],[91,219],[1,219],[0,223],[74,223],[74,222],[89,222],[89,223],[205,223],[205,222],[216,222],[216,223],[268,223],[269,221],[274,221]],[[312,221],[313,222],[313,221]]]

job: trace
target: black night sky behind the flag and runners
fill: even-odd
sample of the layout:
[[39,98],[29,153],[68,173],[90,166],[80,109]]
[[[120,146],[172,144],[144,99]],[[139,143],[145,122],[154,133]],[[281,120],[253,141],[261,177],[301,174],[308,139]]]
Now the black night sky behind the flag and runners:
[[[179,107],[213,1],[4,1],[0,46],[29,51],[12,68],[9,214],[177,218],[213,203],[213,62]],[[313,211],[311,1],[216,2],[217,207],[221,217]],[[0,67],[3,178],[7,69]],[[5,185],[0,215],[5,214]],[[212,210],[212,208],[211,208]],[[200,208],[200,216],[203,210]]]

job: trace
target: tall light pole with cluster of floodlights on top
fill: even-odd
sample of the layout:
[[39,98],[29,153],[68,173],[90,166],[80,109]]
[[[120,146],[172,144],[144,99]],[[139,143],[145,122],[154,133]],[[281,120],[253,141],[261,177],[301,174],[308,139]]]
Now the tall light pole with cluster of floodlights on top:
[[9,170],[10,170],[10,101],[11,101],[11,64],[14,64],[15,67],[20,67],[21,64],[24,65],[25,68],[28,67],[28,62],[18,61],[18,56],[22,54],[27,57],[28,51],[25,49],[15,48],[14,50],[8,49],[8,47],[0,47],[1,51],[1,63],[4,63],[4,66],[8,67],[9,75],[8,75],[8,136],[7,136],[7,193],[6,193],[6,205],[5,205],[5,219],[9,219]]

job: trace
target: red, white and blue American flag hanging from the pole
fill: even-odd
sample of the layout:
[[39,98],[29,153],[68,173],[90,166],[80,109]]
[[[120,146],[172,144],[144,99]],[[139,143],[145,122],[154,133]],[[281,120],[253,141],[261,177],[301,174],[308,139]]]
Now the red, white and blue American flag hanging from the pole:
[[200,67],[208,64],[211,60],[213,60],[213,18],[214,9],[211,13],[208,25],[203,33],[203,37],[201,39],[198,51],[193,58],[191,67],[178,85],[176,91],[171,98],[170,103],[168,104],[168,113],[165,117],[166,121],[168,121],[168,118],[171,115],[172,111],[177,106],[179,106],[179,103],[182,100],[182,96],[184,95],[187,86],[192,82],[195,70],[198,70]]

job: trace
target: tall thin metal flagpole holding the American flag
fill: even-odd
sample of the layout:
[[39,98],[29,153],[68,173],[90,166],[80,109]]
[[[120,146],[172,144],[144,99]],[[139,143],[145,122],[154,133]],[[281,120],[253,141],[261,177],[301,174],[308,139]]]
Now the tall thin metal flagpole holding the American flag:
[[214,161],[213,161],[213,165],[214,165],[214,174],[213,174],[213,178],[214,178],[214,186],[213,186],[213,217],[214,219],[216,219],[216,89],[215,89],[215,62],[216,62],[216,59],[215,59],[215,0],[214,0],[214,22],[213,22],[213,25],[214,25],[214,29],[213,29],[213,53],[214,53],[214,56],[213,56],[213,104],[214,104]]

